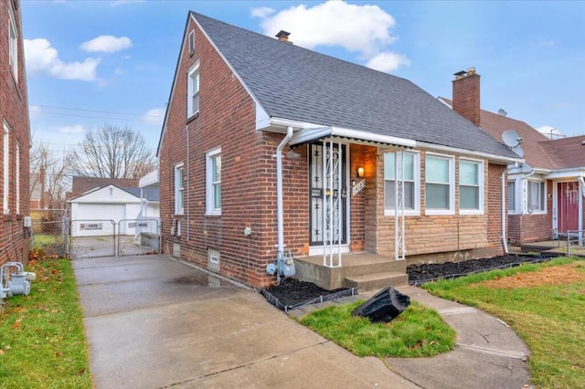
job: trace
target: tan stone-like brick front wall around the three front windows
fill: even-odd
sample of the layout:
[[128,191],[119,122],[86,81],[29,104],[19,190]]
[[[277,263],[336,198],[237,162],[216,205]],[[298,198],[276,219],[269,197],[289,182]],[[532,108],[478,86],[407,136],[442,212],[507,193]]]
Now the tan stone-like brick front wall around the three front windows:
[[[367,176],[366,248],[394,256],[394,216],[384,215],[384,152],[380,149],[376,171]],[[484,215],[460,215],[459,189],[455,184],[455,215],[425,216],[424,156],[420,151],[420,216],[405,216],[405,247],[409,263],[441,262],[493,256],[501,252],[500,177],[504,166],[484,162]],[[458,175],[455,159],[455,176]],[[457,183],[457,179],[456,179]]]

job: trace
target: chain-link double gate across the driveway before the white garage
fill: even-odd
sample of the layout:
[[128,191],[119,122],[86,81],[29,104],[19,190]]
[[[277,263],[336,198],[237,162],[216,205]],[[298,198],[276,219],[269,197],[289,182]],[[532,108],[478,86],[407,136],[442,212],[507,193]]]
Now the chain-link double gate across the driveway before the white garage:
[[71,258],[119,257],[160,251],[159,220],[72,220]]

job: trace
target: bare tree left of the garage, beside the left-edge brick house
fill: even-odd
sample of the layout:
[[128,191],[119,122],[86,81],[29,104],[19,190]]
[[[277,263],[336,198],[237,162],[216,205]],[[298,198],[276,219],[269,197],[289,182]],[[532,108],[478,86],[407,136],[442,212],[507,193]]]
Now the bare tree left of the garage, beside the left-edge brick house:
[[68,153],[52,152],[48,145],[33,142],[30,152],[30,197],[39,197],[40,208],[63,208],[70,187]]

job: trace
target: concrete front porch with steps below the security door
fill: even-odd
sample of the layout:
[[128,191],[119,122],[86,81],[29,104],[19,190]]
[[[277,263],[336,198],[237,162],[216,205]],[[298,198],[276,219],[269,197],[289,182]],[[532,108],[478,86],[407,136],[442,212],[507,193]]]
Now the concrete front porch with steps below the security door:
[[294,258],[296,279],[327,290],[358,288],[360,292],[407,285],[406,260],[367,252],[342,254],[342,266],[324,266],[323,256]]

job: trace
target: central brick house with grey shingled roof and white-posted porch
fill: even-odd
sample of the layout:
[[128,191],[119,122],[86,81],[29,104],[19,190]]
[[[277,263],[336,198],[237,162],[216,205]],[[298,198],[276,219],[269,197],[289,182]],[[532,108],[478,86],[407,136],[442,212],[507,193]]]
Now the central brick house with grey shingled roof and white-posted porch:
[[407,79],[277,37],[188,14],[157,152],[164,252],[256,288],[292,256],[326,289],[502,252],[521,158]]

